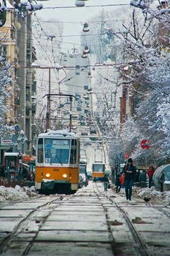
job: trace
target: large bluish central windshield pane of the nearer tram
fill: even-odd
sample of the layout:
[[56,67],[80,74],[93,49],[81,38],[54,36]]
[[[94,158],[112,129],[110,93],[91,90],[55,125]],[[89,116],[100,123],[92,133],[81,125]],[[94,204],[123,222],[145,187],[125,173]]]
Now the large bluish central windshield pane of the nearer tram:
[[70,140],[45,139],[45,163],[68,163]]

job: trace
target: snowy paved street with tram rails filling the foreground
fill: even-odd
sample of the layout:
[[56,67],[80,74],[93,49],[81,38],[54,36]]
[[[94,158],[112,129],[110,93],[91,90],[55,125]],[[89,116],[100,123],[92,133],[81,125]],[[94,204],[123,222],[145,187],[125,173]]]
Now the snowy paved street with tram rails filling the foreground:
[[126,201],[102,183],[0,206],[1,255],[170,255],[169,206]]

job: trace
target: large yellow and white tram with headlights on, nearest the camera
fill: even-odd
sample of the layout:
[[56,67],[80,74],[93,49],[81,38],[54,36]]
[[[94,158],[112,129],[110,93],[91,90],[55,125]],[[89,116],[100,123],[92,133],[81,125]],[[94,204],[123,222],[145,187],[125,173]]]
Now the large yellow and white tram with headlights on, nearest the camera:
[[35,189],[43,193],[73,193],[79,188],[79,137],[49,131],[37,138]]

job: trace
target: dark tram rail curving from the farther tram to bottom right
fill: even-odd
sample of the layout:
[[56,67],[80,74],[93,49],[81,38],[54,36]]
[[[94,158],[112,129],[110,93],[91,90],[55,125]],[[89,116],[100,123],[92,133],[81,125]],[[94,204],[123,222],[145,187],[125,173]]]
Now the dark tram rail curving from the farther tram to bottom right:
[[[97,187],[96,183],[95,185]],[[99,195],[102,195],[105,198],[107,198],[107,200],[109,200],[109,202],[111,202],[112,205],[116,206],[116,208],[120,210],[120,213],[122,213],[122,216],[125,219],[125,222],[127,223],[128,228],[133,236],[135,244],[138,244],[138,246],[135,247],[136,253],[137,253],[136,255],[150,256],[151,254],[148,252],[146,242],[143,242],[143,239],[141,239],[140,234],[138,234],[138,231],[135,229],[135,226],[133,225],[132,221],[130,221],[130,218],[128,217],[128,213],[125,212],[125,210],[121,207],[121,205],[118,205],[116,202],[114,202],[112,198],[109,198],[107,197],[107,195],[104,195],[104,193],[100,192],[99,187],[97,187],[97,192],[99,193]],[[110,228],[109,228],[109,231],[111,231]],[[114,252],[114,244],[112,245],[112,247]]]

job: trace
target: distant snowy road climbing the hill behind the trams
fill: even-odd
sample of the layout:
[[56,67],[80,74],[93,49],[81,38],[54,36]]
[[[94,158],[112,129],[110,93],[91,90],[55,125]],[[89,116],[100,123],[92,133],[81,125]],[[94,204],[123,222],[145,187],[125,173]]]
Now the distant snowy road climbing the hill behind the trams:
[[[95,150],[97,150],[97,148],[102,149],[102,156],[100,156],[98,161],[104,162],[106,159],[105,155],[107,155],[107,153],[106,148],[104,148],[104,145],[102,145],[102,142],[98,141],[101,139],[102,135],[97,128],[97,122],[93,116],[94,106],[92,94],[90,94],[88,90],[84,88],[85,85],[87,85],[89,89],[91,88],[91,77],[88,76],[88,73],[90,72],[89,58],[83,59],[81,58],[81,54],[63,54],[61,66],[73,67],[71,69],[66,69],[66,80],[70,78],[71,80],[66,81],[64,85],[66,86],[66,91],[64,91],[64,93],[77,95],[78,98],[80,97],[78,101],[73,100],[72,115],[76,114],[79,119],[78,121],[72,120],[73,127],[76,127],[76,129],[73,129],[73,132],[76,132],[81,138],[81,148],[83,147],[84,151],[86,152],[87,171],[91,171],[92,163],[95,161]],[[70,106],[67,106],[68,113],[69,107]],[[88,111],[90,111],[90,114]],[[85,121],[85,124],[81,124],[80,121]],[[90,134],[91,127],[96,129],[97,134]],[[84,131],[86,132],[86,135],[82,134]],[[92,138],[94,140],[91,140]]]

